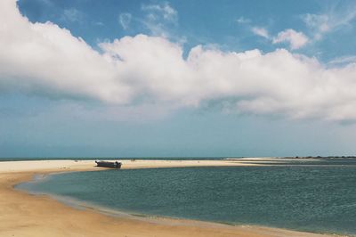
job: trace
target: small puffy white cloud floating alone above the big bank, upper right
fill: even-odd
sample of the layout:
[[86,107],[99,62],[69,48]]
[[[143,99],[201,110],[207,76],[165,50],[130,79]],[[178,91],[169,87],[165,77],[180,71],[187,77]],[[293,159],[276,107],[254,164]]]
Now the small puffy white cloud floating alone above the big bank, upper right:
[[309,38],[306,37],[303,32],[296,32],[294,29],[286,29],[274,37],[272,40],[273,44],[279,44],[287,42],[291,49],[299,49],[306,45]]

